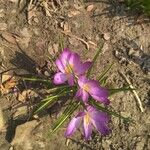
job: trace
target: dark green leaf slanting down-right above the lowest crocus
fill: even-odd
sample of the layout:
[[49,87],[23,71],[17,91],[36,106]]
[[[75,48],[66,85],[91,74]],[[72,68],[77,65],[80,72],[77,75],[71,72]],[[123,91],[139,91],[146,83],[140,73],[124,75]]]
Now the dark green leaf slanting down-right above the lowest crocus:
[[107,114],[109,114],[111,116],[115,116],[115,117],[118,117],[120,119],[123,119],[124,122],[132,122],[132,123],[134,123],[134,120],[131,119],[130,117],[124,117],[124,116],[120,115],[119,113],[117,113],[115,111],[108,110],[108,108],[105,108],[105,107],[101,106],[99,104],[99,102],[96,102],[93,99],[89,100],[89,104],[94,106],[94,107],[96,107],[100,111],[106,112]]

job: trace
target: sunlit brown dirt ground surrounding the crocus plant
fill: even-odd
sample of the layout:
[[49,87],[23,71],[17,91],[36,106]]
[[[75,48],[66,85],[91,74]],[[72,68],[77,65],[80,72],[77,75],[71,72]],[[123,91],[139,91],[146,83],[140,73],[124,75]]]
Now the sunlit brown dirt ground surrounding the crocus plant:
[[[19,3],[18,3],[19,2]],[[78,52],[83,60],[92,59],[96,48],[104,43],[93,68],[93,78],[114,63],[108,73],[110,86],[126,85],[123,72],[136,88],[144,112],[131,92],[110,97],[111,109],[135,124],[124,124],[112,117],[112,133],[102,137],[96,132],[85,142],[78,131],[70,140],[65,127],[52,138],[47,137],[51,124],[60,112],[45,113],[27,121],[16,112],[25,113],[26,104],[15,97],[0,98],[6,127],[0,131],[1,150],[148,150],[150,149],[150,22],[149,18],[130,11],[120,0],[0,0],[0,71],[11,68],[19,75],[32,74],[51,78],[48,57],[57,55],[59,45]],[[45,70],[46,71],[45,71]],[[41,71],[42,70],[42,73]],[[43,71],[44,70],[44,71]],[[31,86],[31,85],[29,85]],[[35,85],[36,87],[36,85]],[[32,87],[31,87],[32,88]],[[12,107],[17,105],[17,107]],[[60,110],[58,106],[58,110]],[[20,113],[20,111],[18,112]],[[52,115],[51,115],[52,114]],[[29,115],[29,114],[28,114]]]

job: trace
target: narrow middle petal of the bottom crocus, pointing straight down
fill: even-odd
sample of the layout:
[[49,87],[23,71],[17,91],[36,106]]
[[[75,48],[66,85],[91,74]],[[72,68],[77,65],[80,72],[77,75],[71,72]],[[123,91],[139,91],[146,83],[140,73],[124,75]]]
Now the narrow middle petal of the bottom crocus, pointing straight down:
[[84,136],[86,140],[89,140],[92,134],[92,124],[90,122],[90,118],[89,116],[87,116],[88,114],[86,114],[84,116],[84,120],[83,120],[83,129],[84,129]]

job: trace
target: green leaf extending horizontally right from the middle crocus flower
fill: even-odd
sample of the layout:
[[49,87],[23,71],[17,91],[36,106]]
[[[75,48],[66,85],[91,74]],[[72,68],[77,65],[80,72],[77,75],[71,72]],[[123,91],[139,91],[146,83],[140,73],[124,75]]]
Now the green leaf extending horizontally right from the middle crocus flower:
[[135,89],[132,89],[130,87],[122,87],[122,88],[116,88],[116,89],[108,89],[109,91],[109,96],[119,93],[119,92],[125,92],[125,91],[133,91]]

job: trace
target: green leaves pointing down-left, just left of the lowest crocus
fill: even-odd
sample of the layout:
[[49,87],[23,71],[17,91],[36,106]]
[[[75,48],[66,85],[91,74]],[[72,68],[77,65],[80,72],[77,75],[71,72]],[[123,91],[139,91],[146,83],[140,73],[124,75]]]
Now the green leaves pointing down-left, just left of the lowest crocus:
[[72,100],[67,108],[64,110],[62,115],[58,118],[58,120],[54,123],[52,127],[52,131],[50,132],[50,136],[55,133],[64,123],[65,121],[74,113],[74,111],[79,107],[80,102]]

